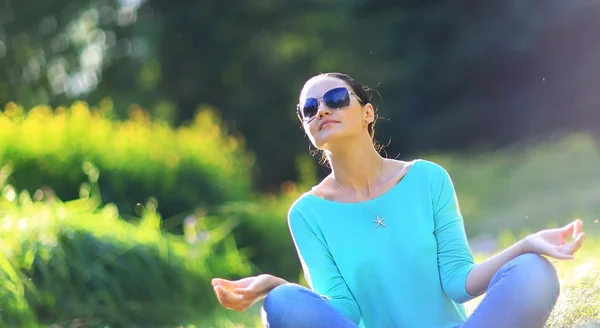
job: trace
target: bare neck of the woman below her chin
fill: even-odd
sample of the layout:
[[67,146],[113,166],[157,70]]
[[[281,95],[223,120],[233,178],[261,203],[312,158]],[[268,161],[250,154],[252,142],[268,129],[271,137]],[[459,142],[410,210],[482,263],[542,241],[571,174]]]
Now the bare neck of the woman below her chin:
[[383,158],[370,138],[328,151],[331,175],[345,189],[369,195],[381,179]]

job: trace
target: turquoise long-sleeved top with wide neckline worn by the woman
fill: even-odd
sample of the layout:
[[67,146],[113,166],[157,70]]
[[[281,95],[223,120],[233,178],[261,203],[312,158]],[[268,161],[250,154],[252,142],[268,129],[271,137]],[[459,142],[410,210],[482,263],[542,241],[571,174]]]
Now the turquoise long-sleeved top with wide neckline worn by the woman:
[[[475,265],[448,172],[416,160],[362,204],[303,194],[288,222],[310,287],[363,328],[450,328],[466,320]],[[307,314],[310,315],[310,314]]]

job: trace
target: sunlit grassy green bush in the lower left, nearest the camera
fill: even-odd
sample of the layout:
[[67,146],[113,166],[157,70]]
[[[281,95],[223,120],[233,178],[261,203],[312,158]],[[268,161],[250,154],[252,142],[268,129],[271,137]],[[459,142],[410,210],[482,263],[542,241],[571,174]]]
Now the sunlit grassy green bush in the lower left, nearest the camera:
[[174,327],[214,310],[212,277],[250,273],[227,220],[174,236],[152,203],[132,224],[96,197],[35,201],[10,185],[0,213],[2,327]]

